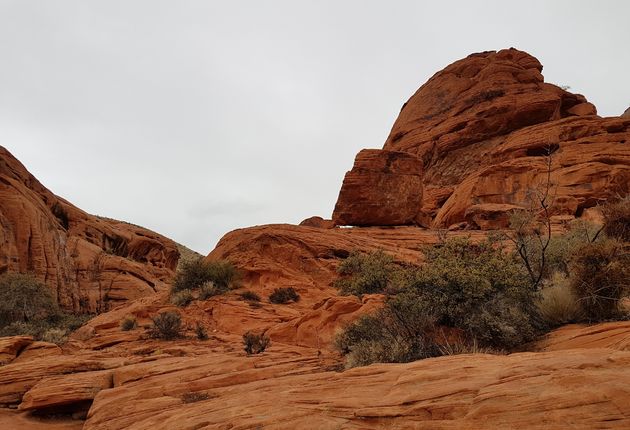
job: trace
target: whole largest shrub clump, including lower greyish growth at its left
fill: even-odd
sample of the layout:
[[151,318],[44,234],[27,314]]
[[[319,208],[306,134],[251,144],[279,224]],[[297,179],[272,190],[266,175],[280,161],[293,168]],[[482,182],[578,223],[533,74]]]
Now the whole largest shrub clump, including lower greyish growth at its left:
[[445,328],[462,333],[462,346],[451,349],[498,350],[528,342],[542,328],[528,274],[498,244],[447,239],[425,254],[420,269],[400,268],[393,275],[406,284],[380,311],[338,335],[336,346],[348,366],[440,355],[444,342],[437,333]]

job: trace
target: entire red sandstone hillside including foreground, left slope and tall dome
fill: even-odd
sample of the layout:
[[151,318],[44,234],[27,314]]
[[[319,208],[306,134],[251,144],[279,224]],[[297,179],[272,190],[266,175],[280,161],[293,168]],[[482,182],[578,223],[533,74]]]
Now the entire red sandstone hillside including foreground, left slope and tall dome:
[[[423,245],[444,234],[421,226],[454,225],[451,236],[485,238],[488,229],[505,227],[505,214],[544,179],[549,148],[560,219],[587,216],[598,201],[627,190],[630,120],[598,117],[584,97],[545,84],[541,70],[530,55],[506,50],[472,55],[436,74],[405,105],[384,149],[360,152],[344,180],[334,221],[362,228],[313,217],[300,226],[235,230],[206,258],[239,267],[234,290],[205,299],[195,292],[178,308],[156,281],[157,293],[147,290],[102,313],[61,346],[0,339],[0,428],[629,428],[628,322],[564,326],[512,354],[345,371],[333,347],[344,325],[383,306],[380,294],[340,296],[331,286],[353,250],[380,249],[417,263]],[[17,225],[20,211],[31,211],[24,213],[35,221],[25,231],[39,236],[29,233],[26,243],[74,265],[55,268],[83,270],[104,255],[111,274],[133,267],[153,282],[172,273],[177,254],[170,241],[84,214],[5,158],[13,168],[2,171],[22,176],[7,173],[0,182],[3,195],[14,196],[12,203],[0,200],[3,217],[14,213],[3,225]],[[21,192],[9,193],[14,189]],[[15,236],[6,231],[13,232],[4,237]],[[41,262],[58,260],[37,260],[39,248],[11,240],[16,255],[18,245],[27,248],[19,259],[7,258],[11,270],[39,261],[40,276],[58,278],[62,269],[48,274],[51,265]],[[80,244],[75,257],[69,242]],[[97,284],[81,279],[72,285],[94,291]],[[273,303],[269,296],[279,287],[300,299]],[[260,301],[246,300],[247,292]],[[185,337],[152,338],[151,318],[174,310]],[[129,318],[137,324],[123,331]],[[243,350],[242,335],[252,330],[271,339],[261,354]]]

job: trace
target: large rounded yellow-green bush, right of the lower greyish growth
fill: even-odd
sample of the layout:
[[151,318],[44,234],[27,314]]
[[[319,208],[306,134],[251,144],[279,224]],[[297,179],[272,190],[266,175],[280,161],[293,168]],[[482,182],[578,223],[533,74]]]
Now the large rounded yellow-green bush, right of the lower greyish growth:
[[417,300],[481,346],[511,348],[536,335],[537,294],[517,259],[492,242],[449,239],[426,251],[412,281]]

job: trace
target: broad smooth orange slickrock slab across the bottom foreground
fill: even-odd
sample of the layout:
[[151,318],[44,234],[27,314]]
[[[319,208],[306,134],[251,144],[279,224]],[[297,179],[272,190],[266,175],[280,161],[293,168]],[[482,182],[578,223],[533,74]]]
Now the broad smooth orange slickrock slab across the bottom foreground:
[[[629,352],[463,355],[343,373],[308,367],[295,373],[288,370],[291,362],[267,367],[264,359],[255,359],[256,370],[239,368],[237,358],[217,357],[140,371],[133,382],[121,380],[121,385],[97,395],[85,429],[630,425],[630,373],[625,371]],[[203,366],[204,360],[214,365]],[[207,399],[184,403],[185,392],[203,392]]]

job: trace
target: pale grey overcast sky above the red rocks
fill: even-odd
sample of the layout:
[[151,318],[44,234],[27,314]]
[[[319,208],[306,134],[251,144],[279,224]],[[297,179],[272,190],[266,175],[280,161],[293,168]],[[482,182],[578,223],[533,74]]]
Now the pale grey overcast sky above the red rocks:
[[470,53],[528,51],[621,114],[629,17],[624,0],[0,0],[0,144],[80,208],[207,254],[235,228],[329,218],[355,154]]

